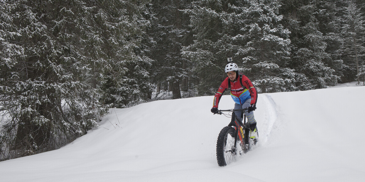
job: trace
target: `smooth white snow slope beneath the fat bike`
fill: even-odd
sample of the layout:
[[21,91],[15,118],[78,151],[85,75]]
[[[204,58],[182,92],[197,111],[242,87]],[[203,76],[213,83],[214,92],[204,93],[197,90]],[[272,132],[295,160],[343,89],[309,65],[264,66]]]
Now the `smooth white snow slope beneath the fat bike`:
[[[0,162],[0,181],[364,181],[365,87],[259,94],[260,143],[219,167],[216,139],[230,122],[213,96],[111,109],[61,149]],[[233,108],[229,95],[220,109]]]

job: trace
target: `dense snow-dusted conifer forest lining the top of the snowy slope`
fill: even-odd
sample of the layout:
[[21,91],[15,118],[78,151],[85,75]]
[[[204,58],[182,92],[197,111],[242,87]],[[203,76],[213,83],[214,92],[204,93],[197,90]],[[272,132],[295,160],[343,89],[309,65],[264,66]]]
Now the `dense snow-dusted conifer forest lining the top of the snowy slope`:
[[214,95],[228,57],[259,93],[363,85],[365,0],[0,0],[0,161]]

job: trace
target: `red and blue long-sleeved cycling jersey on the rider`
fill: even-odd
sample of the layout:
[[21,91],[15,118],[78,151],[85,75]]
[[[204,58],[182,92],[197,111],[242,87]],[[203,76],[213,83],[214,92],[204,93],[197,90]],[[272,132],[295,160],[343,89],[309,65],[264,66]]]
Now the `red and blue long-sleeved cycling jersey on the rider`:
[[[239,83],[240,81],[242,81],[242,85],[245,88],[242,88]],[[228,82],[231,82],[231,80],[227,77],[222,84],[220,84],[218,92],[214,96],[213,107],[218,108],[220,97],[222,97],[223,92],[228,89]],[[251,98],[251,104],[255,104],[257,101],[257,91],[247,76],[242,75],[242,80],[240,80],[239,76],[235,82],[231,82],[231,97],[237,104],[243,104],[249,98]]]

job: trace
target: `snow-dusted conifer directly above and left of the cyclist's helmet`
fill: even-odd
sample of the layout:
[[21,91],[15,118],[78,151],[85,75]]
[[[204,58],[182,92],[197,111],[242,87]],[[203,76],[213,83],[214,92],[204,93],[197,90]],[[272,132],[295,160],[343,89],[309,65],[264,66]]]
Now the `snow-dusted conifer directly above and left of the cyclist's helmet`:
[[243,27],[243,1],[205,0],[194,1],[185,9],[194,33],[193,44],[184,47],[184,57],[192,61],[192,71],[197,76],[198,95],[212,95],[227,77],[224,66],[233,57],[239,67],[241,58],[234,53],[242,46],[234,41]]

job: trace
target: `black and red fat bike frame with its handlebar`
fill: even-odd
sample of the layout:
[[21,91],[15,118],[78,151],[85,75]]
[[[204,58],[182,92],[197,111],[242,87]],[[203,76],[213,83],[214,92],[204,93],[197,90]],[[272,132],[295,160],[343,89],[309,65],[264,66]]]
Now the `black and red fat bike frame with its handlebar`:
[[[218,110],[217,114],[223,114],[222,111],[229,111],[232,112],[232,116],[231,116],[231,122],[228,124],[228,126],[233,126],[235,127],[236,133],[235,133],[235,137],[234,137],[234,147],[237,148],[237,141],[238,139],[241,141],[241,148],[242,146],[245,146],[245,150],[248,150],[247,146],[245,145],[246,143],[248,143],[248,136],[245,136],[246,133],[248,132],[248,128],[246,127],[246,115],[244,114],[244,112],[247,110],[247,108],[244,109],[230,109],[230,110]],[[243,117],[243,122],[241,120],[241,118],[239,118],[236,113],[234,111],[242,111],[242,115]],[[242,126],[242,127],[241,127]],[[243,130],[245,130],[245,132],[243,132]],[[246,131],[247,130],[247,131]]]

